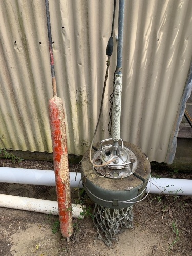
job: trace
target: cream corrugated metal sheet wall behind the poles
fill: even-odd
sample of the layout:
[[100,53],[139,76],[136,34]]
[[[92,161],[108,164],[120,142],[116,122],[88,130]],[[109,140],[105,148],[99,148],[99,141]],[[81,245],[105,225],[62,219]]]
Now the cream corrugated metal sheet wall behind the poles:
[[[6,0],[0,8],[0,147],[52,152],[45,2]],[[57,91],[65,105],[68,152],[76,155],[89,147],[97,123],[112,15],[112,0],[50,0]],[[141,147],[150,161],[170,163],[167,154],[174,156],[169,148],[191,61],[191,17],[190,0],[125,1],[121,138]],[[95,142],[111,137],[114,42]]]

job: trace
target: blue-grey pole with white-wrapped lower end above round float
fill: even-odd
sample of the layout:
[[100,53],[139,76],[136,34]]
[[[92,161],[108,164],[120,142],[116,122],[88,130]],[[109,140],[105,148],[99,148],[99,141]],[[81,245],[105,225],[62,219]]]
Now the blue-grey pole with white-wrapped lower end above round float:
[[117,66],[114,83],[114,99],[112,109],[113,145],[118,146],[120,139],[121,94],[122,94],[122,52],[123,52],[124,0],[119,0]]

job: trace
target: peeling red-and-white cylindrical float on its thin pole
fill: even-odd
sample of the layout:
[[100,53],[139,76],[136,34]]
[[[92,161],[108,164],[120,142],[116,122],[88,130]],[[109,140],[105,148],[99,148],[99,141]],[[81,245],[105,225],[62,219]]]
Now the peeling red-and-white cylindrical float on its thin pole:
[[49,14],[49,0],[45,0],[47,27],[49,38],[49,52],[51,63],[53,98],[49,100],[49,119],[51,127],[51,138],[53,145],[53,160],[55,170],[55,183],[57,191],[57,202],[59,211],[60,229],[63,237],[69,238],[73,233],[71,191],[69,177],[69,163],[66,141],[65,114],[62,100],[57,97],[56,80],[53,59],[53,47],[51,36],[51,23]]

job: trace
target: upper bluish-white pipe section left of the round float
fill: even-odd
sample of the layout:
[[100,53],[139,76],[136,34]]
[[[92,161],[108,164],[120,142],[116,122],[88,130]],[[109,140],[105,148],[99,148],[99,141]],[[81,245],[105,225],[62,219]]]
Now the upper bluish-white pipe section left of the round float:
[[[70,172],[71,187],[83,188],[81,174]],[[53,170],[35,170],[35,169],[20,169],[0,167],[0,182],[55,186],[55,173]]]

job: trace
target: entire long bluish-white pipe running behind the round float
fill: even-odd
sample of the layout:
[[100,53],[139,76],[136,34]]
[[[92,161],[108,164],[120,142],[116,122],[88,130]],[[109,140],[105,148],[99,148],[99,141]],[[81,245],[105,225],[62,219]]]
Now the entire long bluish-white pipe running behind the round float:
[[[70,172],[71,187],[83,188],[81,174]],[[0,167],[0,182],[55,186],[55,174],[52,170],[35,170]],[[169,179],[169,178],[152,178],[147,184],[146,192],[150,189],[153,194],[171,194],[192,196],[192,180],[186,179]]]

